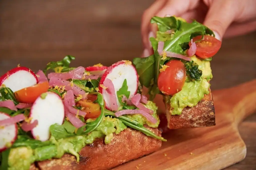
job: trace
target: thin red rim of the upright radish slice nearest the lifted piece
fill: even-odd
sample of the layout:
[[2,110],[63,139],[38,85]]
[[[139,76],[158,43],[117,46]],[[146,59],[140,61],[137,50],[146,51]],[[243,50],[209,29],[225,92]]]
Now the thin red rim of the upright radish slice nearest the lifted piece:
[[[103,73],[103,75],[102,75],[102,77],[101,77],[101,79],[100,79],[99,85],[100,85],[100,84],[103,84],[103,82],[105,81],[105,79],[106,79],[106,77],[108,76],[108,74],[110,74],[111,71],[112,71],[116,66],[119,66],[120,64],[124,64],[124,63],[125,63],[125,64],[129,64],[129,63],[127,63],[127,61],[122,60],[122,61],[118,61],[118,62],[112,64],[111,66],[109,66],[109,67],[107,68],[107,70]],[[137,73],[136,68],[135,68],[132,64],[129,64],[129,65],[131,65],[132,68],[133,68],[133,69],[136,71],[136,73]],[[137,73],[137,84],[138,84],[138,82],[139,82],[139,77],[138,77],[138,73]],[[103,88],[99,86],[99,92],[100,92],[101,94],[102,94],[102,89],[103,89]],[[135,90],[135,92],[134,92],[133,95],[135,95],[135,94],[137,93],[137,91],[138,91],[138,86],[137,86],[137,88],[136,88],[136,90]],[[130,95],[131,95],[131,94],[130,94]],[[106,106],[106,108],[109,109],[107,106]]]

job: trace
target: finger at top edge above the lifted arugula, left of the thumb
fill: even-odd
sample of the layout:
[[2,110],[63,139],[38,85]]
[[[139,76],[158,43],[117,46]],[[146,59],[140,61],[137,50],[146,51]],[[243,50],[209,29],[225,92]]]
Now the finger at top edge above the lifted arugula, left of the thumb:
[[165,15],[180,16],[188,10],[195,9],[198,4],[199,0],[169,0],[156,15],[159,17],[164,17]]

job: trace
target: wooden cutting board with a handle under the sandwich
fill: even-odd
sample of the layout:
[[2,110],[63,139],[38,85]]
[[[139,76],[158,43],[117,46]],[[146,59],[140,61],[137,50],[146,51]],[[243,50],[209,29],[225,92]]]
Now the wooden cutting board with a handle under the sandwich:
[[216,170],[243,160],[246,145],[238,124],[256,110],[256,79],[212,93],[216,126],[172,130],[163,134],[168,141],[158,151],[114,170]]

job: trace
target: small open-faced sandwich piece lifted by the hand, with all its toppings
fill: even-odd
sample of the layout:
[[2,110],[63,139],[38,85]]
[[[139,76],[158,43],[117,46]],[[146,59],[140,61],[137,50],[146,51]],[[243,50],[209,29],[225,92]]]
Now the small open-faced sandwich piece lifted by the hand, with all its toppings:
[[133,60],[141,85],[151,100],[163,95],[169,129],[215,125],[210,61],[221,41],[196,21],[155,16],[151,23],[158,26],[150,38],[154,54]]

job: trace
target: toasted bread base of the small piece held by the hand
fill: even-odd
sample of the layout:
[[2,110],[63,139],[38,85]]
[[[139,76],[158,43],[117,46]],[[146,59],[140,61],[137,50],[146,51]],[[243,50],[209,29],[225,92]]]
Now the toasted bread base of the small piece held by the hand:
[[[165,101],[164,101],[165,102]],[[186,107],[180,115],[171,115],[170,104],[165,102],[169,129],[195,128],[215,125],[215,110],[211,92],[194,107]]]

